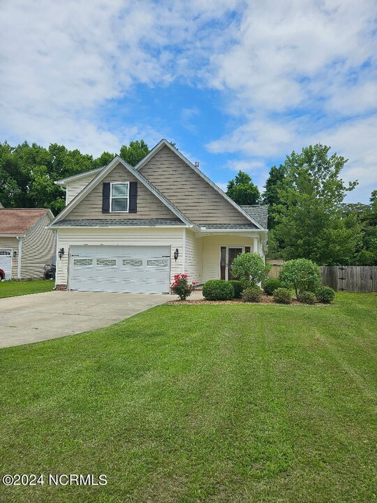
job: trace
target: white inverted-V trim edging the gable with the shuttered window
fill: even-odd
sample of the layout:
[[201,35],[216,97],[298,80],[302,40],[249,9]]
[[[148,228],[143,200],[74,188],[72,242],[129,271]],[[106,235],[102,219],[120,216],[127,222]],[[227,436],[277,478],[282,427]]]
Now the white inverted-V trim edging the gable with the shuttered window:
[[73,198],[73,200],[70,203],[68,203],[68,205],[66,205],[64,210],[62,210],[57,215],[57,217],[55,217],[50,222],[50,226],[52,224],[57,224],[57,222],[59,222],[61,219],[63,219],[66,216],[66,214],[71,212],[71,210],[73,210],[73,208],[75,206],[77,206],[77,204],[80,203],[80,201],[82,201],[82,199],[84,199],[84,197],[87,196],[87,194],[89,194],[89,192],[92,189],[94,189],[94,187],[96,187],[96,185],[98,185],[98,183],[100,183],[105,178],[105,176],[108,175],[108,173],[110,173],[110,171],[115,166],[117,166],[118,163],[121,163],[124,166],[124,168],[126,168],[126,170],[128,170],[135,178],[137,178],[139,180],[139,182],[141,182],[143,185],[145,185],[145,187],[147,187],[147,189],[149,189],[149,191],[151,191],[151,193],[154,194],[154,196],[156,196],[156,198],[158,198],[161,201],[161,203],[163,203],[165,206],[167,206],[169,208],[169,210],[172,211],[176,215],[176,217],[183,220],[184,223],[187,224],[188,226],[196,228],[196,226],[194,226],[191,223],[191,221],[189,221],[188,219],[186,219],[186,217],[184,217],[184,214],[179,212],[175,208],[175,206],[173,206],[171,203],[168,203],[168,201],[165,201],[165,199],[162,196],[160,196],[158,191],[154,190],[153,186],[149,185],[149,183],[147,183],[143,180],[142,175],[140,175],[140,173],[138,173],[138,171],[136,171],[134,168],[132,168],[132,166],[130,166],[128,163],[126,163],[126,161],[121,159],[121,157],[119,157],[119,156],[115,156],[114,159],[112,159],[112,161],[108,164],[108,166],[106,166],[106,168],[103,169],[101,171],[101,173],[98,173],[98,175],[96,177],[94,177],[94,179],[91,180],[91,182],[89,182],[89,184],[87,184],[87,186],[84,187],[84,189],[82,189],[82,191],[79,192],[79,194],[77,194],[77,196],[75,196],[75,198]]

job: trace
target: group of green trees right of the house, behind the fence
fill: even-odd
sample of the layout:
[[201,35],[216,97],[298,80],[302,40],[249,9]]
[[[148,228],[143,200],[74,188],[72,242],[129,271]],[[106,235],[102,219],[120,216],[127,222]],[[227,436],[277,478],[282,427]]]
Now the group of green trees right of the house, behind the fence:
[[272,166],[263,194],[242,171],[228,183],[227,194],[240,205],[268,205],[270,257],[377,265],[377,190],[369,205],[344,203],[357,186],[341,180],[346,162],[326,145],[310,145]]

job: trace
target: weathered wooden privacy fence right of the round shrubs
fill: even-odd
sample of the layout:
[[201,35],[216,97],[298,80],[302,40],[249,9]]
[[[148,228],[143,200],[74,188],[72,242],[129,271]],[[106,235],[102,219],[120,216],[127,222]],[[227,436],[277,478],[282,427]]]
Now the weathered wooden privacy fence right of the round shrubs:
[[322,283],[335,291],[377,291],[377,265],[323,265]]

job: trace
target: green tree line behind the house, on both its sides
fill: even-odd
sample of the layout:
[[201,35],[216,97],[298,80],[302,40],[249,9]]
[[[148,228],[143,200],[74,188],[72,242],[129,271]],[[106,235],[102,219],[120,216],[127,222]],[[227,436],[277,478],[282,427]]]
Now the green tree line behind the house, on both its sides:
[[[148,152],[144,140],[135,140],[122,145],[119,156],[135,166]],[[65,196],[54,181],[106,166],[114,155],[94,157],[56,143],[48,148],[0,143],[0,203],[48,207],[57,214]],[[226,193],[239,205],[268,205],[269,256],[309,258],[318,265],[377,265],[377,190],[369,205],[344,203],[357,185],[341,180],[346,162],[326,145],[310,145],[272,166],[262,194],[242,171],[228,182]]]

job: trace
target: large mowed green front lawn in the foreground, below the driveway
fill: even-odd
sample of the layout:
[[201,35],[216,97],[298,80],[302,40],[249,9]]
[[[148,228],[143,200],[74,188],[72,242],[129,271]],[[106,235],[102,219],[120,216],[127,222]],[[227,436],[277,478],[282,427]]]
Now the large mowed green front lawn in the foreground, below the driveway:
[[165,305],[1,349],[1,502],[375,502],[377,296]]

